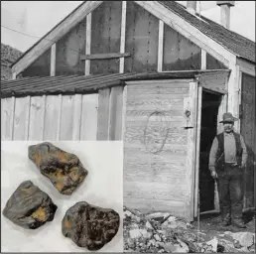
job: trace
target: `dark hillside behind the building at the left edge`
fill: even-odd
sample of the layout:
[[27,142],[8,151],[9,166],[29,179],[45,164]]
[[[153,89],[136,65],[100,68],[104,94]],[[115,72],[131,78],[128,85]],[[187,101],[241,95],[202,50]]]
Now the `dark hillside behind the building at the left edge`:
[[12,77],[10,65],[14,63],[22,52],[8,46],[1,44],[1,80],[8,80]]

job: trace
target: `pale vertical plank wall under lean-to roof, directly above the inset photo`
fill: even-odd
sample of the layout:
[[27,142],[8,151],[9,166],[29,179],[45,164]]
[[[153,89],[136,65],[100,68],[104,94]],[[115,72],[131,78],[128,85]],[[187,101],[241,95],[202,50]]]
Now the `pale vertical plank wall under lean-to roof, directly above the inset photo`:
[[1,99],[1,138],[96,140],[98,94]]

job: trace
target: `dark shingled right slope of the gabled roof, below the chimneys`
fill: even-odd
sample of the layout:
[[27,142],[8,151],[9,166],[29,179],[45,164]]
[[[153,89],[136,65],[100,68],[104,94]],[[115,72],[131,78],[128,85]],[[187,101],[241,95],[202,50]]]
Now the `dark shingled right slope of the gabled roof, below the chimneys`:
[[196,27],[200,32],[222,45],[237,57],[255,63],[255,42],[235,33],[223,26],[203,17],[193,16],[186,7],[175,1],[158,1],[166,8],[172,10],[187,22]]

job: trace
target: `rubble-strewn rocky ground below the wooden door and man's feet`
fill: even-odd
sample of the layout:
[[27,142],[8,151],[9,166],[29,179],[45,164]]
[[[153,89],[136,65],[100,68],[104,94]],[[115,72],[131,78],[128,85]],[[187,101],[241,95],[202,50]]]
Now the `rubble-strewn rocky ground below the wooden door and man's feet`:
[[220,226],[219,216],[197,222],[169,213],[143,214],[124,207],[124,252],[255,252],[255,213],[246,214],[247,228]]

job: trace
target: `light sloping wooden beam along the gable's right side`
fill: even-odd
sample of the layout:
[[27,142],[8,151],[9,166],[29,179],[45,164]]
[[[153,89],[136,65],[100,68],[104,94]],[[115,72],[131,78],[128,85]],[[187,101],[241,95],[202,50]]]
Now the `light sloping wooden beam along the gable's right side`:
[[208,36],[201,33],[197,28],[192,26],[184,18],[172,12],[172,10],[167,9],[164,5],[158,1],[134,1],[138,5],[142,6],[148,12],[161,19],[175,29],[181,35],[192,41],[200,49],[204,50],[206,53],[210,54],[213,58],[229,66],[229,60],[235,59],[235,55],[227,51],[220,44],[210,39]]

